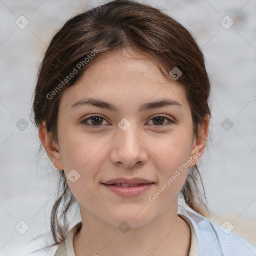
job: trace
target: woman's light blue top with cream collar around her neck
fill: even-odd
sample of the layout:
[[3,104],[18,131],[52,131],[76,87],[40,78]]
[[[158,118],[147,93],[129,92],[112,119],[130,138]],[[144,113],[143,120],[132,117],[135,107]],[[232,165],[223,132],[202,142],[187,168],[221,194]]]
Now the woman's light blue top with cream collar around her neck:
[[[256,248],[240,236],[224,232],[219,225],[203,217],[189,206],[179,206],[178,215],[191,230],[191,246],[188,256],[255,256]],[[75,256],[73,237],[81,229],[77,223],[67,234],[55,256]],[[228,233],[228,234],[227,234]]]

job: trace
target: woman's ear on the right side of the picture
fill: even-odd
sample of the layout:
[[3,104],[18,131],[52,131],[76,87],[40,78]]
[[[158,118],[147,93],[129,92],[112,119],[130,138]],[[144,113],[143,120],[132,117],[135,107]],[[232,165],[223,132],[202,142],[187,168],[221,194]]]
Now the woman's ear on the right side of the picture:
[[194,136],[192,149],[191,149],[191,155],[190,160],[192,163],[189,165],[189,168],[192,168],[195,166],[195,164],[198,162],[200,157],[202,156],[205,145],[207,142],[208,132],[209,132],[209,122],[210,122],[210,116],[207,114],[205,116],[205,122],[198,126],[198,135]]

